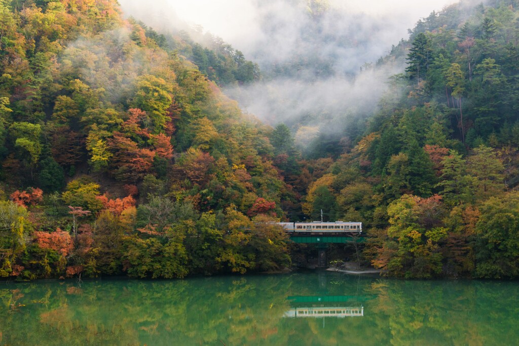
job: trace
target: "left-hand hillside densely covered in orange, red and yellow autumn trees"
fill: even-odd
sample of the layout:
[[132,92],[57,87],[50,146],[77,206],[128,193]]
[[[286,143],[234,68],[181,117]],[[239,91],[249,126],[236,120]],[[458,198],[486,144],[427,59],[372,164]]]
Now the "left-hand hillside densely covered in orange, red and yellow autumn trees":
[[293,194],[272,129],[177,49],[199,46],[123,20],[112,0],[2,1],[0,21],[1,276],[290,264],[283,234],[256,226]]

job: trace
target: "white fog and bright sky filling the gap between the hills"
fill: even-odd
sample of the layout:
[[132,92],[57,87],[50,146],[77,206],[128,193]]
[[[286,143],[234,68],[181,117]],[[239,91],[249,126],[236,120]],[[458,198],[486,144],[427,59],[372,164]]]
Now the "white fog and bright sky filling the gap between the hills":
[[260,65],[263,80],[227,88],[245,112],[294,132],[345,131],[349,118],[374,112],[387,77],[403,72],[404,59],[383,70],[361,66],[386,56],[408,29],[455,3],[452,0],[120,0],[126,15],[160,31],[201,25],[245,59]]

